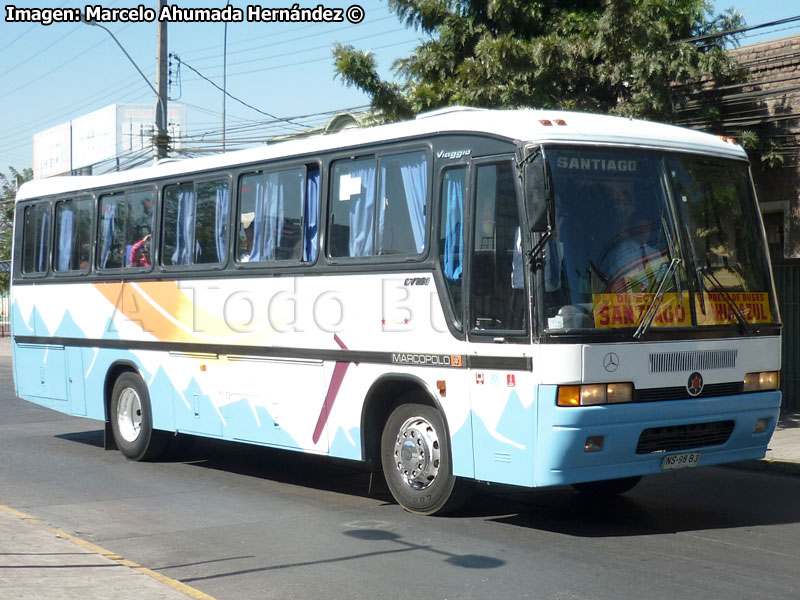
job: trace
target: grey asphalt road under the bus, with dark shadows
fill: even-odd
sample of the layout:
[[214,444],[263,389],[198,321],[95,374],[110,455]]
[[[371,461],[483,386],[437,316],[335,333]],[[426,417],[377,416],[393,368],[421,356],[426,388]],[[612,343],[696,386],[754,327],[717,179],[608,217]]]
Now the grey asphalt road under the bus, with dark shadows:
[[800,478],[646,478],[605,503],[481,488],[449,518],[349,465],[200,441],[136,463],[100,424],[15,398],[0,357],[0,504],[219,600],[800,597]]

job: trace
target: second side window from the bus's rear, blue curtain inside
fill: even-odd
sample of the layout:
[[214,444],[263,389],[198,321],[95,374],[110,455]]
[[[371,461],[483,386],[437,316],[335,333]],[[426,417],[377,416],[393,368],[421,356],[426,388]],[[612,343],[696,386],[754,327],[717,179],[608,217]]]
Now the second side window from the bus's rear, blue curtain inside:
[[56,204],[54,268],[58,273],[88,271],[92,248],[92,200]]

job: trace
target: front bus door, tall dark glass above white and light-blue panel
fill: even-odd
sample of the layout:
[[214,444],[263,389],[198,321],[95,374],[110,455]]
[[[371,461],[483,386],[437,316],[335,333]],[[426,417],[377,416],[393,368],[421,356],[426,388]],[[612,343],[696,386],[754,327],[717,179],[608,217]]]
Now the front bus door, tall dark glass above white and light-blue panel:
[[514,158],[475,160],[465,310],[475,477],[533,484],[529,276]]

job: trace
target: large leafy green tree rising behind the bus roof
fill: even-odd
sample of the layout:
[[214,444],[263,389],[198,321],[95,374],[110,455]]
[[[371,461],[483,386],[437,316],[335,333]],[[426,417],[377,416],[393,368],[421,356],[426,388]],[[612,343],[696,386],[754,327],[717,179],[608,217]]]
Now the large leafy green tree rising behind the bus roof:
[[743,19],[707,0],[388,2],[427,36],[393,65],[399,82],[353,46],[337,44],[334,58],[389,121],[453,104],[671,120],[692,89],[743,75],[724,51],[731,35],[715,36]]

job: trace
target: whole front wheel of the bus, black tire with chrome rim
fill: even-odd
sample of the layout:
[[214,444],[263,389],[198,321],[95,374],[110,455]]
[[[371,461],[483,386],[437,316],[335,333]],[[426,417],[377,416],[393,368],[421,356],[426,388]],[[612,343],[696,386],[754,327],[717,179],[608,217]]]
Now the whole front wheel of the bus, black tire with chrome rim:
[[438,410],[400,404],[381,436],[386,485],[400,506],[419,515],[451,512],[466,500],[465,483],[453,475],[450,440]]

